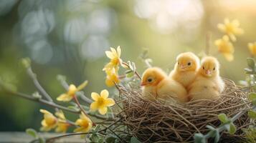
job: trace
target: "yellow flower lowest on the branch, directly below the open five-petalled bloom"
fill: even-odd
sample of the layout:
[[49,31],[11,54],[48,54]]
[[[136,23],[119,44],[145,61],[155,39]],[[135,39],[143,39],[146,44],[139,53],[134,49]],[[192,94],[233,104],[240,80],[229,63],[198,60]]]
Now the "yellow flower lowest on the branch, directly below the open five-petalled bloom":
[[85,114],[80,114],[80,119],[77,119],[75,122],[77,126],[79,126],[77,129],[74,130],[74,132],[89,132],[90,129],[93,127],[93,122],[90,120],[90,118],[86,117]]

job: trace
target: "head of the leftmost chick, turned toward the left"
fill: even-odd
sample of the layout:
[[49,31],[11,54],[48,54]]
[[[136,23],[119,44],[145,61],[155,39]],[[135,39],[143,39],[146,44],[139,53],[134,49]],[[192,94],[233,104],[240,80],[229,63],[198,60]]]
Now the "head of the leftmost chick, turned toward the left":
[[156,86],[165,77],[167,75],[162,69],[157,67],[148,68],[143,73],[141,86]]

